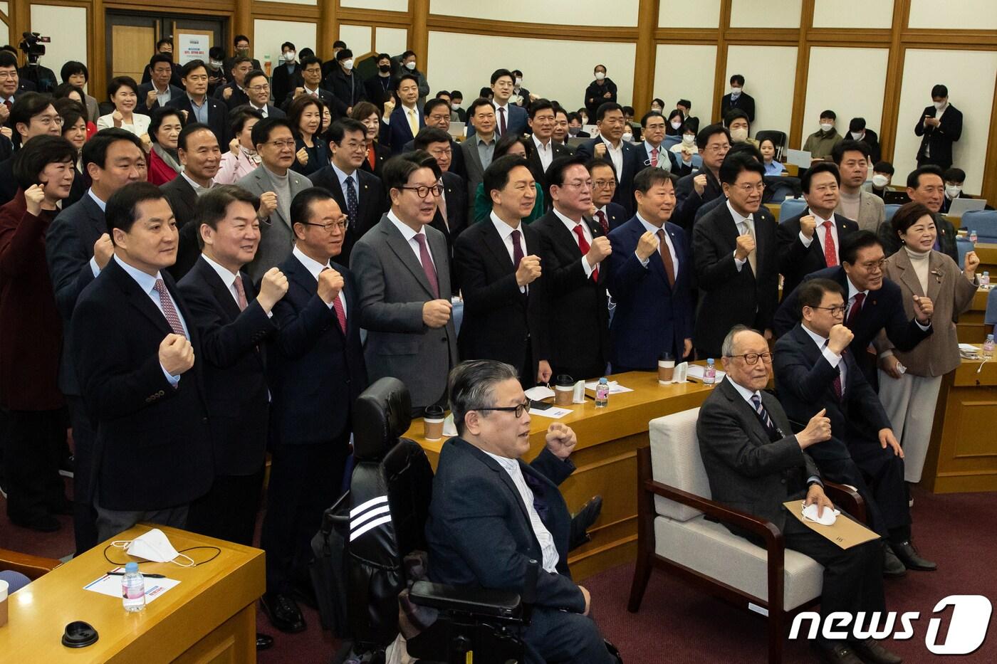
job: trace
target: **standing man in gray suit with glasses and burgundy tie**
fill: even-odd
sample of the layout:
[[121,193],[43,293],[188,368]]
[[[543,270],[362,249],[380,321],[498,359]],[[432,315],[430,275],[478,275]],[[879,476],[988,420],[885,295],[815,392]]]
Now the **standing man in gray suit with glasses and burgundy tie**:
[[388,160],[383,179],[391,209],[350,256],[371,379],[401,380],[419,415],[446,402],[447,372],[457,364],[447,240],[428,227],[437,212],[440,174],[429,155]]

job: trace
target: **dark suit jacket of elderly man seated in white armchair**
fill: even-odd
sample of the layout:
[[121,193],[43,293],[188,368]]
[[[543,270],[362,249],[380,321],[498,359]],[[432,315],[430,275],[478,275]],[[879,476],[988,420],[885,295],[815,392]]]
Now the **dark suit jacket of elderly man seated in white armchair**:
[[755,410],[730,379],[724,379],[700,408],[696,437],[713,499],[761,516],[782,530],[787,518],[783,503],[804,498],[807,480],[820,473],[800,449],[779,401],[762,392],[762,405],[784,436],[778,441],[770,440]]

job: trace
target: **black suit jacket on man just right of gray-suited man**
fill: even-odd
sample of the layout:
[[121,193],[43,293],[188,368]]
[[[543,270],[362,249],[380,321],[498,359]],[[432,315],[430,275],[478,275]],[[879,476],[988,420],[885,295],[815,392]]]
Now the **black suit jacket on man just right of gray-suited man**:
[[[539,233],[524,223],[519,230],[526,244],[523,255],[541,255]],[[457,238],[454,269],[464,293],[457,340],[461,358],[531,368],[532,375],[522,376],[522,383],[535,384],[537,363],[550,359],[546,277],[529,284],[525,294],[519,291],[512,260],[491,219],[471,225]]]

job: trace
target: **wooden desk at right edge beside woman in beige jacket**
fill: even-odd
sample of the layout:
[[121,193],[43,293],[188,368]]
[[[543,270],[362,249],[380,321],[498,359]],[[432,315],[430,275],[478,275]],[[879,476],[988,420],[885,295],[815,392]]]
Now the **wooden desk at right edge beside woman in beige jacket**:
[[963,360],[942,378],[921,485],[935,494],[997,492],[997,362]]

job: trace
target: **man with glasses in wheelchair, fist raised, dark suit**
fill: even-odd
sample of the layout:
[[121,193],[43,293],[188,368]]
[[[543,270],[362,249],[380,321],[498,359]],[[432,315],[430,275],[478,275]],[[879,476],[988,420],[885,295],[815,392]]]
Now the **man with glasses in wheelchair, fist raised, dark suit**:
[[609,664],[588,617],[588,591],[567,566],[570,516],[557,486],[574,470],[574,432],[551,424],[546,447],[527,465],[521,457],[529,452],[529,402],[516,369],[464,362],[450,386],[458,437],[444,445],[433,479],[426,522],[431,578],[521,592],[529,561],[538,561],[532,620],[522,635],[526,661]]

